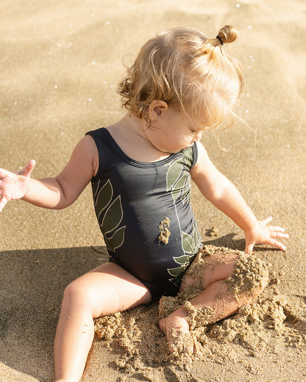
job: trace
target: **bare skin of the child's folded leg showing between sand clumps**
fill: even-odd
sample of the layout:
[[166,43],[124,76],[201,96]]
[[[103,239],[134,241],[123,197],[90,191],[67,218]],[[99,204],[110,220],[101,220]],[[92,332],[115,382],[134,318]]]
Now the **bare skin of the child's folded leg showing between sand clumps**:
[[[249,290],[242,294],[233,293],[230,284],[225,280],[232,276],[238,256],[238,254],[225,255],[216,253],[204,257],[206,266],[203,267],[203,278],[201,280],[204,291],[191,299],[190,302],[192,309],[204,308],[205,311],[201,311],[201,313],[204,312],[206,324],[214,323],[236,313],[241,306],[251,303],[268,283],[268,272],[266,272],[260,285],[252,291]],[[246,254],[245,257],[248,258],[249,255]],[[182,284],[180,291],[183,291],[184,288],[191,286],[196,281],[191,277],[185,278],[185,283]],[[172,335],[174,331],[185,335],[189,333],[191,321],[188,309],[181,306],[167,317],[161,319],[159,326],[167,335],[170,351],[173,350],[172,343],[174,340]]]

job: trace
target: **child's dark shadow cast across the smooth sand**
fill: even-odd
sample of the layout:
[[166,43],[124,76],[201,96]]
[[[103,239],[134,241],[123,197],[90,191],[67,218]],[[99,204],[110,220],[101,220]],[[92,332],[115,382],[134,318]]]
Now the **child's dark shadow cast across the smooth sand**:
[[[210,240],[206,236],[203,243],[243,250],[244,240],[234,240],[234,236]],[[1,251],[0,361],[41,382],[51,381],[64,289],[106,261],[105,246]]]

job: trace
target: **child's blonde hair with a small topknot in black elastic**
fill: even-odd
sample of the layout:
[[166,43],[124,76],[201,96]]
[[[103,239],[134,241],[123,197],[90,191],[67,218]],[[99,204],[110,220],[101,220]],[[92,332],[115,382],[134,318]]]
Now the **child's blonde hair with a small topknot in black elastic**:
[[203,128],[218,126],[233,111],[243,90],[241,66],[223,49],[237,35],[230,25],[215,38],[189,27],[158,33],[140,49],[118,85],[122,107],[144,118],[148,127],[153,100],[166,102],[199,124],[205,110]]

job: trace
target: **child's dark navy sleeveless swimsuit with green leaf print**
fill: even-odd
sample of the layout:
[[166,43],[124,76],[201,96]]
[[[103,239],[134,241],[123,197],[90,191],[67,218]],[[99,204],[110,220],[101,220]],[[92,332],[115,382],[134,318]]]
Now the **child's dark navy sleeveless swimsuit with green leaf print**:
[[[107,129],[86,134],[99,153],[91,184],[110,261],[138,278],[153,297],[175,295],[201,246],[190,204],[196,144],[164,160],[142,163],[125,155]],[[165,218],[170,221],[168,243],[160,241]]]

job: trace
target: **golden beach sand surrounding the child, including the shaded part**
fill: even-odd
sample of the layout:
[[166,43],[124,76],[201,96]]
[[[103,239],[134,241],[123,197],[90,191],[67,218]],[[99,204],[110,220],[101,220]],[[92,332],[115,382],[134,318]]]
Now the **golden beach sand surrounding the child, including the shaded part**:
[[[3,0],[0,10],[0,167],[17,171],[33,158],[37,178],[58,174],[85,132],[123,115],[115,88],[124,54],[135,57],[166,27],[209,36],[241,27],[244,37],[226,49],[243,66],[249,127],[235,121],[219,138],[224,150],[217,132],[202,142],[258,218],[271,214],[290,234],[286,252],[254,248],[269,286],[237,314],[193,329],[188,368],[171,362],[153,303],[117,318],[133,341],[122,330],[96,337],[82,382],[306,381],[305,2]],[[62,211],[16,201],[0,214],[1,382],[54,379],[64,288],[107,261],[91,198],[87,187]],[[244,249],[241,231],[195,187],[191,202],[204,244]]]

